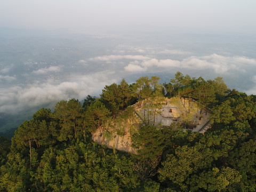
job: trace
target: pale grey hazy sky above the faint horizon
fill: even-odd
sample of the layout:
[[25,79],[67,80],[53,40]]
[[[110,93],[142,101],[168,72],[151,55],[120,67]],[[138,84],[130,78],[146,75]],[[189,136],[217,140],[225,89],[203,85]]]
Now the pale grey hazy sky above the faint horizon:
[[255,0],[8,0],[0,27],[124,31],[256,33]]

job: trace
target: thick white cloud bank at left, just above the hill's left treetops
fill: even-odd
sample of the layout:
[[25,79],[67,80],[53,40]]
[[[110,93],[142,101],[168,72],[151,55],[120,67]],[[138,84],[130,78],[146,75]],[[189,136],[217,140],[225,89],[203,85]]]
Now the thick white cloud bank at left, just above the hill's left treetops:
[[52,101],[71,98],[84,99],[88,94],[99,94],[105,86],[117,79],[114,71],[101,71],[89,75],[68,76],[65,82],[56,83],[52,79],[30,85],[15,85],[0,92],[0,113],[19,113],[23,109],[42,106]]

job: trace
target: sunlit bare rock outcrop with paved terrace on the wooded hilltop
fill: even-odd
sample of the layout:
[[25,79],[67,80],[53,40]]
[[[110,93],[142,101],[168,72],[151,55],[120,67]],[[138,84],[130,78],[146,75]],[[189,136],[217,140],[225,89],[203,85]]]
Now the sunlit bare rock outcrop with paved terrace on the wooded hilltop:
[[[163,101],[158,104],[158,107],[162,106],[161,108],[154,108],[147,103],[144,104],[144,101],[135,103],[132,106],[134,111],[132,114],[133,119],[130,123],[124,121],[115,126],[112,124],[107,127],[107,131],[104,133],[102,133],[101,129],[97,129],[92,134],[93,141],[98,142],[100,145],[104,144],[109,148],[114,147],[117,150],[136,153],[136,150],[132,147],[132,132],[139,130],[143,124],[156,125],[159,129],[162,129],[163,126],[179,123],[183,124],[184,131],[198,132],[209,122],[211,113],[209,111],[206,113],[203,110],[200,115],[200,110],[195,100],[187,99],[186,102],[186,99],[178,97],[171,99],[163,97],[160,100]],[[126,113],[126,111],[123,113]],[[117,121],[120,121],[120,119]],[[207,129],[209,127],[207,126]],[[201,133],[204,133],[207,129],[202,130]]]

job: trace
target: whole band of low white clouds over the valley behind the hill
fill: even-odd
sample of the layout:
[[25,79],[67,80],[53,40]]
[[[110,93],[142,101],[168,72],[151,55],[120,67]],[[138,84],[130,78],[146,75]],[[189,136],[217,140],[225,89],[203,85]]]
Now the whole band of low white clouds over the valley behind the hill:
[[170,81],[177,71],[205,79],[221,76],[230,89],[256,94],[256,57],[238,53],[232,47],[199,52],[173,44],[161,47],[125,42],[106,51],[95,50],[91,55],[86,51],[76,53],[66,63],[58,61],[35,67],[35,58],[30,58],[33,62],[29,65],[28,59],[19,58],[19,65],[4,60],[0,62],[0,113],[17,114],[62,99],[82,101],[88,94],[99,96],[105,85],[119,83],[122,78],[133,83],[135,77],[158,75]]

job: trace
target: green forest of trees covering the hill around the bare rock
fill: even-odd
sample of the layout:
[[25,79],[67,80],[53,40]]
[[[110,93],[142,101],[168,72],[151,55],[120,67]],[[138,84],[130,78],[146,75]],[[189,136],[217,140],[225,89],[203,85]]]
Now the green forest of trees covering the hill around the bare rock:
[[[99,98],[39,109],[11,141],[0,137],[0,191],[255,191],[255,95],[229,89],[221,77],[179,71],[159,82],[123,79]],[[193,99],[201,113],[211,111],[211,129],[184,131],[188,118],[163,126],[142,117],[135,126],[135,103],[155,116],[166,97]],[[99,145],[92,140],[97,130],[106,139],[129,131],[136,153]]]

